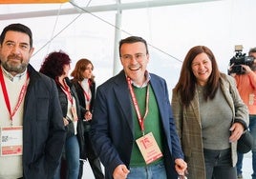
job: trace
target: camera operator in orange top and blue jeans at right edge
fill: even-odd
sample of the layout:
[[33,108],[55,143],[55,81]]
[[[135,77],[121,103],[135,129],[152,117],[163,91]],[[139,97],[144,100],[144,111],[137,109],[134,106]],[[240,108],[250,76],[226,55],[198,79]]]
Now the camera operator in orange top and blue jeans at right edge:
[[[245,73],[236,74],[231,73],[237,83],[237,89],[245,105],[249,109],[249,131],[253,137],[252,148],[252,179],[256,179],[256,48],[252,48],[248,52],[249,56],[254,57],[254,63],[251,67],[241,65]],[[232,65],[230,68],[232,71]],[[237,162],[237,178],[243,179],[242,166],[243,166],[243,153],[238,153]]]

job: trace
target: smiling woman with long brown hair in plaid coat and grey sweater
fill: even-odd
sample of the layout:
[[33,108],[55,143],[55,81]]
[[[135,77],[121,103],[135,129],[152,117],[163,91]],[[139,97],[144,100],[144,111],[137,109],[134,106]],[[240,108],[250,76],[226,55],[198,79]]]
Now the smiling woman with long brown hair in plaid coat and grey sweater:
[[188,178],[235,179],[237,140],[247,127],[248,111],[234,79],[219,71],[207,47],[187,52],[172,107]]

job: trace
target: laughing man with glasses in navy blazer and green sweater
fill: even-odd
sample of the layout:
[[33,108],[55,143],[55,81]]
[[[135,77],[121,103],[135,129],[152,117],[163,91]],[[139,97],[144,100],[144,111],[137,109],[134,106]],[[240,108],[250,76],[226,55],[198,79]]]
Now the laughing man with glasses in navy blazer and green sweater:
[[146,68],[146,41],[119,42],[123,66],[96,89],[91,136],[106,179],[173,179],[183,176],[181,144],[164,79]]

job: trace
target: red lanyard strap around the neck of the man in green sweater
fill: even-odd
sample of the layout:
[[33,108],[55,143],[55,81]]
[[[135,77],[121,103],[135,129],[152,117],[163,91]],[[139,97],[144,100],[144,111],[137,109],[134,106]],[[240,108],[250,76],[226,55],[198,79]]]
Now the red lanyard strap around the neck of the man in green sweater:
[[131,96],[132,96],[133,104],[134,104],[134,107],[135,107],[135,110],[136,110],[136,113],[137,113],[137,116],[138,116],[139,126],[140,126],[140,129],[141,129],[142,135],[144,135],[145,134],[144,120],[145,120],[145,118],[148,114],[148,105],[149,105],[149,85],[147,85],[147,93],[146,93],[146,110],[145,110],[144,116],[141,117],[140,112],[139,112],[138,101],[136,99],[134,89],[132,88],[131,78],[127,77],[127,82],[128,82],[128,87],[130,89]]

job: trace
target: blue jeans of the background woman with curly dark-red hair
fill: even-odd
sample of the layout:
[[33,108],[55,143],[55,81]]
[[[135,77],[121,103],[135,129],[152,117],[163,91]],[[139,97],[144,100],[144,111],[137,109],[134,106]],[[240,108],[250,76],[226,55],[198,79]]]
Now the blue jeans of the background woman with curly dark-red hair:
[[[66,140],[64,154],[68,167],[67,179],[77,179],[79,174],[80,149],[76,135]],[[60,165],[56,169],[53,179],[60,179]]]

